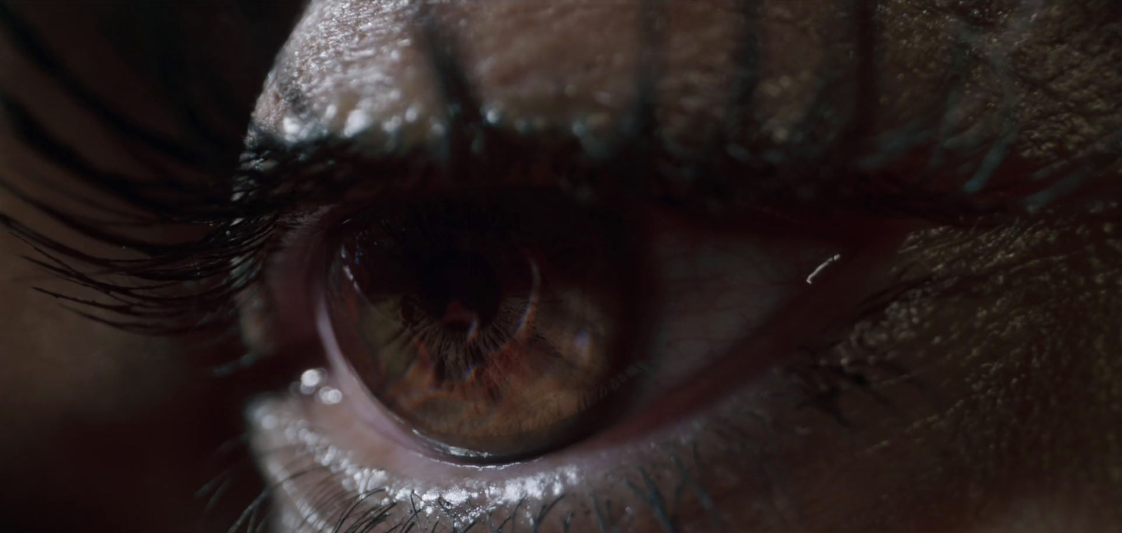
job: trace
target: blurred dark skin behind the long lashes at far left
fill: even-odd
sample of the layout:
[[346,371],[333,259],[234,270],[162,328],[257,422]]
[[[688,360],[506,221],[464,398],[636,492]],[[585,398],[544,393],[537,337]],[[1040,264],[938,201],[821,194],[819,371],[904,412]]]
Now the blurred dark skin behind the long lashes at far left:
[[[107,103],[129,110],[130,117],[146,120],[146,126],[171,127],[171,118],[162,112],[166,103],[155,97],[160,92],[153,88],[150,76],[138,74],[150,68],[139,66],[141,58],[112,48],[100,26],[123,24],[121,35],[159,43],[166,29],[157,28],[151,11],[113,2],[19,2],[15,8],[62,57],[80,65],[76,74]],[[182,43],[197,54],[193,57],[224,65],[227,94],[248,113],[297,9],[278,3],[276,20],[263,18],[254,26],[259,31],[251,34],[260,39],[257,44],[246,42],[249,25],[232,9],[184,3],[164,13],[183,21],[184,27],[176,30],[192,36]],[[131,16],[142,22],[130,25]],[[199,31],[200,27],[212,29]],[[4,73],[2,90],[47,113],[52,128],[73,146],[99,154],[95,160],[109,167],[127,168],[127,158],[116,141],[105,138],[105,130],[85,118],[82,107],[67,101],[7,43],[0,45],[0,71]],[[236,144],[240,132],[233,131]],[[0,132],[0,168],[9,183],[46,200],[58,200],[49,187],[39,186],[46,178],[73,186],[70,177],[28,157],[7,130]],[[38,174],[33,177],[30,169]],[[80,208],[72,203],[70,209]],[[0,212],[52,232],[63,242],[104,251],[61,231],[10,194],[0,194]],[[45,283],[42,286],[52,282],[21,259],[29,251],[24,243],[4,235],[0,250],[0,382],[6,390],[0,399],[4,428],[0,476],[6,480],[0,487],[0,529],[184,531],[188,529],[184,524],[229,524],[227,515],[243,503],[226,508],[226,502],[220,502],[211,514],[213,521],[201,520],[205,500],[194,493],[226,468],[214,468],[222,463],[222,459],[215,462],[215,450],[240,431],[238,405],[243,392],[237,385],[222,385],[211,371],[238,348],[199,353],[185,349],[193,342],[188,339],[146,338],[93,323],[30,291],[39,282]],[[249,490],[256,490],[257,483],[243,477]]]

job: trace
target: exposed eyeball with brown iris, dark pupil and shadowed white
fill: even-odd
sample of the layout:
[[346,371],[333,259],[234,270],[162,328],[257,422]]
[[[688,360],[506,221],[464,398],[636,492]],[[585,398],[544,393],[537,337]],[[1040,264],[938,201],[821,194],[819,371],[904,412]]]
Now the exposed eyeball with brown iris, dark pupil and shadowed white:
[[[673,227],[629,235],[577,206],[434,201],[349,220],[324,282],[328,351],[366,407],[465,462],[542,454],[640,415],[839,254]],[[338,403],[316,373],[301,389]]]

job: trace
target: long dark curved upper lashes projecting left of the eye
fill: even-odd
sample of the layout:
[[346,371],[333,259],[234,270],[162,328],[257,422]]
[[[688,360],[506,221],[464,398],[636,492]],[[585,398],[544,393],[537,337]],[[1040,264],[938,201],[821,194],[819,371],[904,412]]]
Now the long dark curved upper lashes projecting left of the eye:
[[[165,175],[146,181],[137,176],[102,172],[79,150],[55,139],[12,97],[0,93],[0,111],[3,111],[2,116],[17,139],[67,176],[104,193],[107,200],[121,208],[94,204],[96,211],[102,215],[113,217],[113,220],[77,217],[67,213],[59,205],[37,200],[2,176],[0,186],[47,217],[62,222],[82,238],[125,248],[139,256],[111,258],[88,255],[0,213],[0,226],[38,252],[37,258],[30,258],[33,263],[54,276],[95,290],[105,300],[90,301],[45,288],[37,290],[75,304],[71,307],[80,314],[128,331],[174,334],[228,323],[233,316],[231,296],[249,284],[247,277],[227,275],[228,260],[245,257],[246,251],[261,240],[260,224],[242,226],[250,231],[227,232],[228,228],[223,226],[237,212],[222,209],[229,203],[229,185],[217,178],[184,178],[172,169],[221,176],[227,172],[222,169],[224,166],[221,162],[236,160],[231,156],[237,155],[237,137],[231,138],[233,143],[223,149],[221,141],[213,138],[210,141],[194,140],[192,146],[149,131],[93,95],[44,45],[29,25],[4,3],[0,3],[0,30],[3,30],[7,40],[17,50],[130,147],[129,153],[138,163],[153,168],[154,173]],[[211,230],[200,239],[165,243],[134,239],[119,229],[144,224],[184,224]],[[258,229],[251,230],[254,226]],[[241,270],[252,273],[256,268]],[[180,291],[184,283],[210,283],[210,286]],[[195,312],[184,316],[183,312],[187,310]],[[104,313],[94,313],[95,311]],[[183,318],[186,321],[182,321]]]

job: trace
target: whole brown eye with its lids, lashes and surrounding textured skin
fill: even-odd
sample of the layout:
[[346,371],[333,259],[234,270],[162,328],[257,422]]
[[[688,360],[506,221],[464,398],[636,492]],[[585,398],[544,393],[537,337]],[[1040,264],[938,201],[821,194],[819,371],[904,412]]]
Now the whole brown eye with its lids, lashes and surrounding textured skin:
[[204,237],[4,220],[93,318],[245,351],[230,531],[1098,527],[1119,79],[1055,45],[1111,49],[1087,6],[316,0],[237,171],[101,177]]

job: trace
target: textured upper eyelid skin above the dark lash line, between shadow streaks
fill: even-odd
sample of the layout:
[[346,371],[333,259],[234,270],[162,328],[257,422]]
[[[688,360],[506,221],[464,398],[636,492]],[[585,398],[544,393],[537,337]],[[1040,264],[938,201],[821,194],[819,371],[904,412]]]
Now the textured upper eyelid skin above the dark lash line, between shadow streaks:
[[[757,81],[753,135],[779,145],[795,141],[792,130],[825,101],[838,114],[861,113],[872,131],[935,112],[948,136],[959,136],[949,144],[1008,137],[1008,166],[1017,168],[1116,146],[1116,2],[894,0],[876,2],[863,26],[864,3],[652,2],[664,31],[664,136],[690,143],[721,127],[737,81],[748,74]],[[596,137],[633,102],[644,49],[638,1],[425,9],[490,120]],[[292,140],[324,129],[373,145],[432,138],[443,108],[417,12],[406,0],[311,2],[258,102],[259,126]],[[746,37],[758,49],[756,68],[742,61]],[[857,107],[868,94],[876,97]]]

